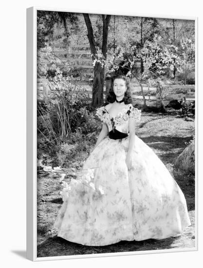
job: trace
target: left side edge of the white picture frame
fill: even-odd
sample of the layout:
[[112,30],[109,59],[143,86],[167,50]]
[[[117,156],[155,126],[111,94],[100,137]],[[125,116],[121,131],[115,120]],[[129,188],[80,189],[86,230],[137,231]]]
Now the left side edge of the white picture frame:
[[35,260],[34,187],[34,91],[35,91],[35,8],[26,10],[26,257]]

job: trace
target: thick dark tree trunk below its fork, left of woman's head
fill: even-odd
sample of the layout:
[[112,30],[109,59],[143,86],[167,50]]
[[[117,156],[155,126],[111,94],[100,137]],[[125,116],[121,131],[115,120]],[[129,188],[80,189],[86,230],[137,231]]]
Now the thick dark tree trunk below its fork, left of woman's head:
[[94,66],[92,86],[92,106],[97,107],[104,103],[104,67],[99,62]]

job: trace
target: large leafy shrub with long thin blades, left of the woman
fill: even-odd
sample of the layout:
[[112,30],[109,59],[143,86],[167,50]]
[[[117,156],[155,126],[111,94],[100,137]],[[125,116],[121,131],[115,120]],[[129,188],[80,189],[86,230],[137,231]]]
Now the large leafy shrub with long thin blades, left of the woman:
[[52,166],[69,167],[73,159],[81,162],[90,153],[100,123],[84,87],[58,85],[49,99],[38,100],[37,157]]

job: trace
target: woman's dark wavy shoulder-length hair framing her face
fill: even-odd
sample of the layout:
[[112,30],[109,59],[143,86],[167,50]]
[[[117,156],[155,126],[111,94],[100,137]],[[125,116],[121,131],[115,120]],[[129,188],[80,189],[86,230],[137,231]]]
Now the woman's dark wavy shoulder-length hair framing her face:
[[124,75],[116,75],[116,76],[111,77],[111,87],[107,96],[107,101],[110,103],[113,103],[116,100],[115,93],[113,92],[113,81],[117,78],[123,79],[126,82],[127,90],[124,96],[124,103],[125,104],[132,103],[132,98],[130,95],[130,88],[129,88],[129,78]]

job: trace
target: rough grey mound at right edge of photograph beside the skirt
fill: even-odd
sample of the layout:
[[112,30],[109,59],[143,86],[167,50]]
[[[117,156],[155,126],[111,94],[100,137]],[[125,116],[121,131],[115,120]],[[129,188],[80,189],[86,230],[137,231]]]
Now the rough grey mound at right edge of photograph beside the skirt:
[[195,140],[193,140],[175,161],[175,167],[195,174]]

